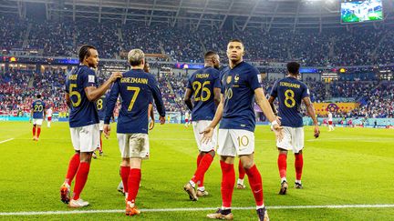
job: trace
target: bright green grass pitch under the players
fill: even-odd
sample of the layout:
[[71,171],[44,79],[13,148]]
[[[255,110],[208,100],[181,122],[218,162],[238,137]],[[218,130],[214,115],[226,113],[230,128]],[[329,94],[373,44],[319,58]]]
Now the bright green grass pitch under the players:
[[[43,126],[40,140],[31,140],[28,123],[0,123],[0,219],[55,220],[206,220],[202,211],[144,212],[127,217],[123,213],[4,216],[7,212],[75,211],[59,199],[59,186],[73,154],[67,123]],[[88,183],[81,197],[90,206],[80,210],[123,210],[119,184],[119,147],[116,126],[104,139],[104,154],[92,161]],[[392,220],[394,207],[386,208],[284,208],[269,206],[393,205],[394,134],[392,130],[337,128],[328,133],[321,127],[318,139],[306,127],[304,189],[291,187],[279,196],[277,151],[268,126],[255,130],[255,162],[264,185],[264,203],[271,220]],[[140,209],[207,208],[221,206],[219,158],[205,176],[210,196],[192,202],[182,186],[195,170],[197,148],[192,134],[182,125],[156,125],[150,133],[150,160],[142,165],[142,181],[137,198]],[[237,164],[235,164],[237,166]],[[236,167],[235,167],[236,168]],[[287,158],[287,179],[295,179],[294,156]],[[247,181],[246,181],[247,183]],[[292,186],[292,185],[291,185]],[[254,206],[250,187],[234,189],[234,207]],[[235,220],[256,220],[255,211],[233,210]]]

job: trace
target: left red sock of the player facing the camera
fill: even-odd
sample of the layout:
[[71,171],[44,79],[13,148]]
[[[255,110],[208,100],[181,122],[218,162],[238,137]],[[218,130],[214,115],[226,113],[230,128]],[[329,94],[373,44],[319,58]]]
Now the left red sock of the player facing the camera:
[[233,165],[221,161],[222,167],[222,203],[224,207],[231,207],[233,186],[235,184],[235,171]]

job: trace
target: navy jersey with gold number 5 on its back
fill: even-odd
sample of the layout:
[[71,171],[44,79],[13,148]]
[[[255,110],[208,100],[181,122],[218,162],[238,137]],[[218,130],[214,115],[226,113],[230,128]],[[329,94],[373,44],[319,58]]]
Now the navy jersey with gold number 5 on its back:
[[95,102],[90,102],[85,94],[85,88],[97,86],[95,72],[86,65],[78,65],[66,80],[66,92],[69,94],[71,109],[69,126],[89,126],[99,123],[99,114]]

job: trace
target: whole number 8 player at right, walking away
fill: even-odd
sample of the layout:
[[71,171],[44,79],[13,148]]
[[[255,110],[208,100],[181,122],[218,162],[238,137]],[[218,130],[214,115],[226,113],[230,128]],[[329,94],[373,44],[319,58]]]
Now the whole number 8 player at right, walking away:
[[[271,96],[268,99],[271,106],[274,106],[275,98],[278,98],[278,116],[281,117],[281,126],[284,127],[284,138],[281,141],[276,142],[276,146],[279,151],[277,165],[279,169],[279,175],[281,177],[281,189],[279,191],[280,195],[285,195],[288,187],[286,180],[286,159],[288,150],[292,150],[296,157],[295,186],[298,189],[302,188],[301,176],[304,165],[302,153],[304,148],[304,125],[301,114],[301,102],[304,102],[308,115],[313,119],[315,126],[314,136],[317,138],[320,134],[315,108],[309,97],[309,90],[304,83],[297,79],[299,75],[299,68],[300,65],[296,62],[288,63],[288,75],[285,78],[275,82],[271,90]],[[273,108],[273,110],[276,113],[275,108]]]

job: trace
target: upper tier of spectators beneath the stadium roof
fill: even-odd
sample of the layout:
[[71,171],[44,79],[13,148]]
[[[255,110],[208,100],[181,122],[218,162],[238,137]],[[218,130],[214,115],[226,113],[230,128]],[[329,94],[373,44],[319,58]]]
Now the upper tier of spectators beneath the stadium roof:
[[[349,31],[198,30],[171,25],[86,23],[18,20],[2,17],[0,49],[38,49],[41,55],[76,56],[79,45],[96,45],[102,58],[119,58],[121,52],[140,47],[150,54],[165,54],[176,62],[202,62],[203,52],[214,50],[224,59],[230,39],[244,41],[246,60],[285,62],[309,66],[382,65],[394,57],[394,30],[355,27]],[[29,27],[29,28],[27,28]],[[28,35],[26,30],[29,29]],[[26,44],[24,43],[26,40]]]

